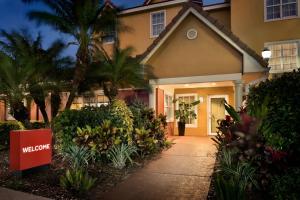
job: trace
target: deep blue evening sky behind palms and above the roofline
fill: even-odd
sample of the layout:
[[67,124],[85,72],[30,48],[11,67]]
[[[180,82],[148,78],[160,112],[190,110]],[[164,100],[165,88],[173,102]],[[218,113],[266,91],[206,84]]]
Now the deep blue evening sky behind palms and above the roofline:
[[[204,0],[205,4],[220,2],[222,0]],[[113,0],[116,5],[122,7],[132,7],[140,5],[144,0]],[[34,22],[28,21],[26,13],[30,9],[43,9],[41,4],[26,5],[21,0],[0,0],[0,29],[12,30],[26,28],[34,34],[41,32],[44,37],[44,44],[48,46],[57,38],[68,40],[69,38],[63,34],[59,34],[47,26],[36,26]],[[67,50],[68,55],[74,55],[75,47]]]

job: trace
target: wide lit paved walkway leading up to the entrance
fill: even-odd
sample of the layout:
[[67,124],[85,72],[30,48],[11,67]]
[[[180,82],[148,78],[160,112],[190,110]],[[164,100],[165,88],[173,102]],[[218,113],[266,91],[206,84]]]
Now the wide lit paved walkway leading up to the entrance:
[[206,199],[215,163],[213,141],[209,137],[177,137],[174,142],[160,158],[103,194],[103,199]]

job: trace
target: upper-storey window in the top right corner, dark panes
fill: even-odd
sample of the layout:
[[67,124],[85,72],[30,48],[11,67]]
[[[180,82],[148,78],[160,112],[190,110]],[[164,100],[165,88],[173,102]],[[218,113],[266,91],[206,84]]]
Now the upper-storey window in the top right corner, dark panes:
[[298,16],[298,0],[265,0],[266,20]]

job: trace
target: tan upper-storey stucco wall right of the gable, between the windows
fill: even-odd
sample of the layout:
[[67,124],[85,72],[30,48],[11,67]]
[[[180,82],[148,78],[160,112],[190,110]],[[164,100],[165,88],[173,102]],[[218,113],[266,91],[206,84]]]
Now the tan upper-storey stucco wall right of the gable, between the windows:
[[264,0],[231,0],[232,31],[260,54],[264,43],[300,39],[300,18],[264,22]]

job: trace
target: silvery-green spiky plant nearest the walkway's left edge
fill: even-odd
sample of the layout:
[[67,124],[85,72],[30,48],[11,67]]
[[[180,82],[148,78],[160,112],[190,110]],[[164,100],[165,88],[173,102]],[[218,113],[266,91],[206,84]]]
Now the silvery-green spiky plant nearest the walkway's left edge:
[[132,154],[136,153],[135,146],[121,144],[114,145],[107,152],[107,158],[112,162],[113,166],[117,169],[123,169],[126,167],[126,163],[129,161],[132,164]]

